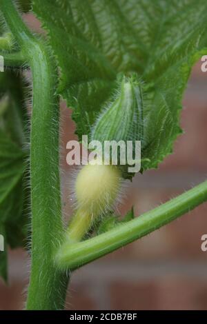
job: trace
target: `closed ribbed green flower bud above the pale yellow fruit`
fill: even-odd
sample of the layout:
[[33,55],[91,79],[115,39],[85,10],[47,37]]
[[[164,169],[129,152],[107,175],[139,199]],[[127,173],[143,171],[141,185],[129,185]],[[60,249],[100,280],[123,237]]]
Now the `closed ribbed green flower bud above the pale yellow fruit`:
[[142,141],[143,95],[137,74],[123,77],[115,97],[108,103],[92,130],[92,140]]

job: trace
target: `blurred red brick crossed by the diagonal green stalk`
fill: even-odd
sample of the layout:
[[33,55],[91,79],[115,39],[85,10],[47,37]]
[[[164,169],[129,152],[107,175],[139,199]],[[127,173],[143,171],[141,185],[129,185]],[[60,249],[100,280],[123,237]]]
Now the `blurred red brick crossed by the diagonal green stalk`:
[[[156,192],[134,190],[132,203],[135,205],[135,214],[142,214],[179,193],[175,194],[170,190],[157,190]],[[201,259],[207,261],[207,252],[201,251],[203,234],[207,234],[206,203],[144,238],[109,254],[105,259],[139,261]]]

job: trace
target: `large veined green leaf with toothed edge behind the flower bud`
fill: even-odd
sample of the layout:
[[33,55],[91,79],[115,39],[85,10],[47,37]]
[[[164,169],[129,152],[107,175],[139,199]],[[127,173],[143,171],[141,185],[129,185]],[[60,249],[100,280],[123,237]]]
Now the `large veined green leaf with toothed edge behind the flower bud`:
[[181,133],[190,70],[207,50],[206,0],[33,0],[33,11],[48,30],[59,91],[74,108],[80,140],[110,99],[117,73],[137,72],[147,85],[142,169],[157,168]]

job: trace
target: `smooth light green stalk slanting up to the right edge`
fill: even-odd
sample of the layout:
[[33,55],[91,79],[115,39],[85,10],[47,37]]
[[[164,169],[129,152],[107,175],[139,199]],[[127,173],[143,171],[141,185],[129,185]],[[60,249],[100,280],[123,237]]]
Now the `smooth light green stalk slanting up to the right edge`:
[[160,205],[155,210],[117,225],[114,229],[92,239],[72,245],[66,241],[56,256],[57,264],[63,269],[74,270],[157,230],[205,201],[207,201],[207,181]]

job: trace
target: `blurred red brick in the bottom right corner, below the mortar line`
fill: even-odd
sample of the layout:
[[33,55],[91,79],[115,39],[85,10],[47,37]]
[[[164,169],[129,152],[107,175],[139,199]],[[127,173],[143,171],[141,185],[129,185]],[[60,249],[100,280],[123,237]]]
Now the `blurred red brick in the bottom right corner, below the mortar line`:
[[112,310],[207,310],[207,284],[183,277],[112,283]]

